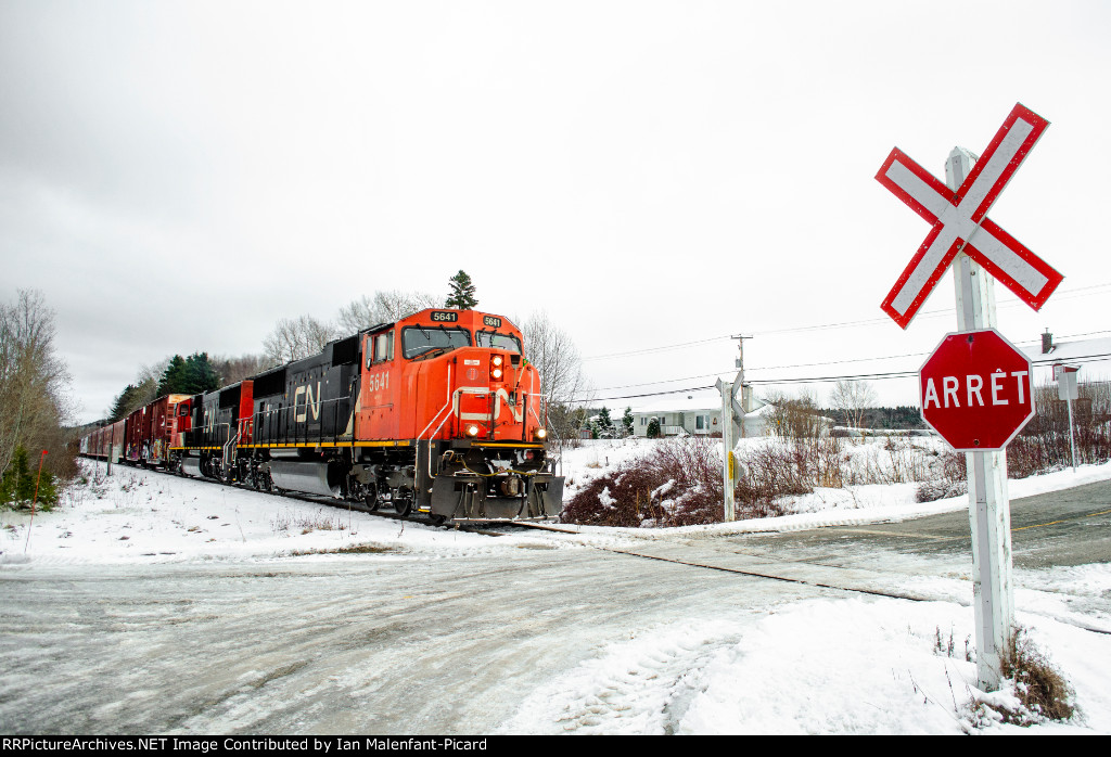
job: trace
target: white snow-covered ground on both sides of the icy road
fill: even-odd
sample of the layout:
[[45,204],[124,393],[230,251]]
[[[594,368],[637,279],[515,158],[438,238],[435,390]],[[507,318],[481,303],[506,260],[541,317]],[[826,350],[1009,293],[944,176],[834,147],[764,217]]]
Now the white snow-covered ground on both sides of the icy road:
[[[581,486],[647,442],[600,442],[569,451],[563,473]],[[0,513],[0,571],[7,578],[38,568],[106,564],[273,561],[451,559],[510,554],[543,544],[590,549],[692,531],[775,532],[829,524],[904,519],[958,511],[964,498],[913,502],[912,485],[825,489],[778,518],[684,529],[579,529],[567,537],[527,532],[499,538],[377,518],[157,473],[84,463],[88,483],[69,491],[52,513]],[[1012,498],[1111,478],[1111,465],[1012,481]],[[517,554],[521,554],[517,552]],[[945,582],[949,600],[915,603],[845,594],[805,599],[751,619],[737,617],[630,627],[595,654],[563,669],[507,708],[510,734],[1111,734],[1111,635],[1041,613],[1024,599],[1083,592],[1111,599],[1111,566],[1021,572],[1018,619],[1077,693],[1068,724],[1030,728],[973,714],[975,666],[964,657],[973,637],[971,585]],[[559,592],[558,579],[552,592]],[[1090,627],[1111,630],[1099,614]],[[821,633],[815,633],[821,629]],[[952,639],[954,654],[935,649]],[[2,676],[0,676],[2,680]],[[1005,699],[1007,692],[994,695]],[[621,705],[610,706],[620,700]],[[663,713],[681,707],[679,727]]]

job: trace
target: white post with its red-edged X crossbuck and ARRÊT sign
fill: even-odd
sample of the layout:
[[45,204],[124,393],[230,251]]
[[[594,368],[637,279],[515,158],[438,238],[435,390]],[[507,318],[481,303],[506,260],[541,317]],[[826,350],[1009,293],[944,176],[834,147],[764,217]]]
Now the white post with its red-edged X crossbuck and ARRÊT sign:
[[[883,311],[905,329],[945,270],[953,268],[958,333],[947,336],[922,366],[920,391],[922,417],[935,428],[947,426],[950,434],[939,433],[965,453],[977,673],[985,690],[999,688],[1003,655],[1014,633],[1005,446],[1033,416],[1029,360],[994,331],[992,281],[998,279],[1040,310],[1063,279],[993,223],[988,211],[1048,125],[1017,104],[979,160],[963,148],[953,149],[944,184],[898,148],[875,174],[931,225],[884,299]],[[1013,365],[1015,355],[1025,362],[1024,369]],[[1012,363],[1012,370],[999,371],[1000,361]],[[1004,386],[1008,380],[1010,390]]]

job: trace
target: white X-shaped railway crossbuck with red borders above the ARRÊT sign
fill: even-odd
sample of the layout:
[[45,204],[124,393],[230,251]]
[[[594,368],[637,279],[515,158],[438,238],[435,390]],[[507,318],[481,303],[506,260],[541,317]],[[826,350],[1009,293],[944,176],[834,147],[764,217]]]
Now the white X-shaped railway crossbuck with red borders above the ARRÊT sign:
[[988,218],[1049,121],[1022,104],[1014,105],[1002,128],[953,192],[899,148],[891,151],[875,179],[933,229],[881,305],[905,329],[958,253],[963,252],[1040,310],[1064,277]]

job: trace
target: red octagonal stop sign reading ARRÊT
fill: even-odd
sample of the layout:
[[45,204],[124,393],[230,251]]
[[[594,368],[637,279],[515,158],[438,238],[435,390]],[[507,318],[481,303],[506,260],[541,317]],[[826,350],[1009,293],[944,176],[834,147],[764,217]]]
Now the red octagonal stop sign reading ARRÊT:
[[918,372],[922,420],[958,452],[1003,450],[1034,416],[1031,374],[994,329],[949,334]]

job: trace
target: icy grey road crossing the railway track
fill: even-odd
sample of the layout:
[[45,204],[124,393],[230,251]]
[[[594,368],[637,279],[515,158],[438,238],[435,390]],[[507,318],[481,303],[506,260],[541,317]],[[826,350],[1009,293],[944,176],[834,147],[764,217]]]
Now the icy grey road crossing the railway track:
[[[1012,503],[1017,565],[1111,562],[1109,503],[1111,484]],[[0,733],[487,733],[600,645],[657,625],[743,619],[835,587],[971,598],[968,544],[957,513],[609,552],[9,566]],[[1111,597],[1094,602],[1111,612]],[[679,650],[673,667],[712,653]]]

